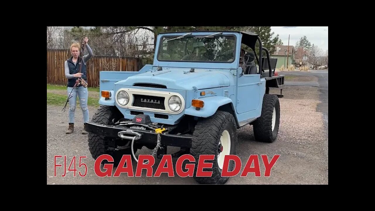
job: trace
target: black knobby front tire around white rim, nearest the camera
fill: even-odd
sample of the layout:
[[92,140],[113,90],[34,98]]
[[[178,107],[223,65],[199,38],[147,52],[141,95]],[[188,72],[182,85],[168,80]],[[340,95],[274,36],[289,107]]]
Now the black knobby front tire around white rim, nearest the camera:
[[[190,154],[195,158],[195,167],[193,178],[200,184],[224,184],[229,177],[222,177],[217,162],[217,155],[219,154],[219,141],[223,131],[228,130],[230,136],[230,154],[237,153],[237,131],[236,121],[233,115],[228,112],[217,111],[213,116],[201,119],[197,122],[192,138],[192,148]],[[215,155],[214,160],[205,160],[205,163],[213,163],[212,168],[204,168],[203,171],[212,172],[211,177],[197,177],[196,172],[198,168],[199,155]],[[234,168],[234,161],[229,162],[228,171]]]

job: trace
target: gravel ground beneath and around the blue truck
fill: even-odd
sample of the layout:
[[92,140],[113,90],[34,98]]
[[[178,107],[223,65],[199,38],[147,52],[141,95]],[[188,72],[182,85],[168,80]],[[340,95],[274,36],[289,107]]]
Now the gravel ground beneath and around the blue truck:
[[[315,79],[313,80],[315,81]],[[271,93],[279,90],[271,89]],[[254,140],[251,125],[238,131],[238,156],[242,160],[242,167],[249,156],[281,155],[273,166],[271,175],[264,177],[264,165],[260,158],[261,177],[249,173],[247,177],[231,177],[226,184],[328,184],[328,137],[324,134],[323,115],[317,111],[319,91],[317,87],[284,86],[284,98],[280,98],[281,121],[278,140],[274,143],[261,143]],[[47,105],[47,184],[197,184],[193,178],[168,177],[162,173],[160,177],[146,177],[145,170],[141,177],[128,177],[122,173],[119,177],[100,178],[93,170],[94,161],[87,145],[87,135],[81,134],[83,119],[81,110],[76,110],[76,127],[73,134],[65,134],[68,129],[68,110],[62,113],[63,105]],[[95,107],[89,107],[90,117]],[[178,151],[178,148],[168,148],[168,153]],[[142,148],[136,155],[151,154],[152,151]],[[62,177],[63,167],[57,168],[54,177],[54,155],[66,155],[67,166],[73,156],[87,156],[83,159],[88,172],[85,177],[73,176],[67,172]],[[260,157],[260,156],[259,156]],[[63,164],[63,158],[58,158],[58,164]],[[270,158],[269,158],[270,159]],[[156,170],[159,160],[154,165]],[[77,169],[83,170],[83,168]],[[174,159],[175,165],[175,159]],[[133,161],[135,172],[136,162]]]

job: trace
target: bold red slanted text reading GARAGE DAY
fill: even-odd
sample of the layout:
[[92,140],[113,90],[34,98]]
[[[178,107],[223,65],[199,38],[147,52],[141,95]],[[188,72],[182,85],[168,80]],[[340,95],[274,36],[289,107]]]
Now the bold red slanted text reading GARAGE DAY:
[[[260,162],[263,162],[264,167],[265,167],[264,176],[270,176],[271,169],[279,157],[280,155],[274,155],[272,160],[269,161],[267,155],[261,155],[261,160],[258,157],[258,155],[250,155],[240,176],[247,176],[248,173],[254,173],[255,176],[261,176]],[[100,177],[111,176],[113,173],[113,164],[109,164],[109,163],[104,164],[105,171],[103,172],[100,168],[103,160],[108,160],[109,162],[114,161],[111,155],[105,154],[105,155],[99,156],[96,159],[95,165],[94,165],[95,173],[97,176],[100,176]],[[148,160],[148,163],[145,162],[146,160]],[[182,169],[184,160],[189,160],[190,162],[193,162],[193,163],[185,164],[185,168],[187,169],[187,171],[183,171]],[[200,155],[199,156],[196,176],[211,176],[212,172],[207,171],[207,170],[203,171],[203,169],[212,167],[212,163],[205,162],[208,160],[212,162],[214,160],[214,155]],[[228,164],[229,164],[229,161],[231,160],[235,162],[235,168],[233,171],[228,172]],[[186,154],[186,155],[182,155],[181,157],[179,157],[175,165],[177,176],[180,176],[180,177],[193,176],[194,167],[195,167],[194,162],[195,162],[195,158],[192,155]],[[125,163],[126,163],[126,167],[124,167]],[[154,164],[155,164],[155,158],[152,155],[139,155],[138,164],[135,170],[135,176],[140,177],[142,175],[143,169],[146,170],[146,176],[149,176],[149,177],[160,176],[161,173],[167,173],[168,176],[175,176],[171,155],[163,155],[159,165],[157,166],[155,173],[153,174],[152,166]],[[253,167],[251,167],[252,164],[254,164]],[[242,162],[241,162],[241,159],[237,155],[225,155],[222,176],[228,176],[228,177],[236,176],[240,173],[241,169],[242,169]],[[120,160],[120,163],[115,169],[113,176],[120,176],[121,173],[127,173],[127,176],[134,176],[132,158],[130,157],[130,155],[123,155],[123,157]]]

